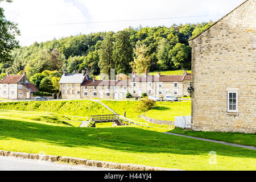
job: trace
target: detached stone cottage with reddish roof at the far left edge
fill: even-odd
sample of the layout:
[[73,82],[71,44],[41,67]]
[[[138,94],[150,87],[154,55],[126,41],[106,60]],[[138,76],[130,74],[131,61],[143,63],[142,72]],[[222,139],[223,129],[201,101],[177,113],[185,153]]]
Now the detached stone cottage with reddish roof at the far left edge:
[[33,94],[38,91],[35,85],[26,77],[26,72],[23,75],[9,75],[0,81],[0,98],[25,100],[32,99]]

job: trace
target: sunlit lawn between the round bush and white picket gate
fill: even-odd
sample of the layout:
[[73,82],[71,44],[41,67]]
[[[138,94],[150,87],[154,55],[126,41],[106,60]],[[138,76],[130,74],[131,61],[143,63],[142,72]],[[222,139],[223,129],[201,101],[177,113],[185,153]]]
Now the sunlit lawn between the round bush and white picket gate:
[[156,106],[145,115],[153,119],[174,121],[175,116],[191,115],[191,101],[156,102]]

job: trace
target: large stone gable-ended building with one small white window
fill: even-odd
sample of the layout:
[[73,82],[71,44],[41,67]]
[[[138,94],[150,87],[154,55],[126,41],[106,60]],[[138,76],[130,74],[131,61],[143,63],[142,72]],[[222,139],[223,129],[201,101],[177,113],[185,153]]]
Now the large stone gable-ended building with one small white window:
[[255,2],[243,2],[189,41],[195,131],[256,131]]

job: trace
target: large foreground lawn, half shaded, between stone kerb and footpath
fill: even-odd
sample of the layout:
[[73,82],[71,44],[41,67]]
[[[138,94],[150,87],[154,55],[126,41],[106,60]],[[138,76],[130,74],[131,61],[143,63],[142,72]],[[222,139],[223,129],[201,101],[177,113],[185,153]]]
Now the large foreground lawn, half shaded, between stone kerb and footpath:
[[[186,170],[256,169],[255,151],[245,148],[176,137],[137,126],[79,128],[18,115],[0,115],[0,150]],[[210,151],[217,153],[216,165],[209,164]]]

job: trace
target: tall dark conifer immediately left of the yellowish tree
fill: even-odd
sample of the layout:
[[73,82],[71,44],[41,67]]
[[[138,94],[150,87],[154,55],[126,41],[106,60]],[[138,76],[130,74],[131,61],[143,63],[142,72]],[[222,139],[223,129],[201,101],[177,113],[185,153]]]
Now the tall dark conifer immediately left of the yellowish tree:
[[113,46],[113,60],[115,73],[131,73],[130,62],[133,61],[133,48],[130,44],[130,34],[127,31],[119,31],[115,34]]

